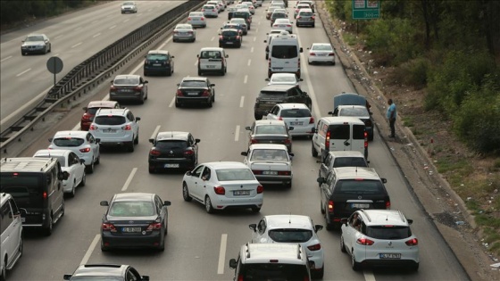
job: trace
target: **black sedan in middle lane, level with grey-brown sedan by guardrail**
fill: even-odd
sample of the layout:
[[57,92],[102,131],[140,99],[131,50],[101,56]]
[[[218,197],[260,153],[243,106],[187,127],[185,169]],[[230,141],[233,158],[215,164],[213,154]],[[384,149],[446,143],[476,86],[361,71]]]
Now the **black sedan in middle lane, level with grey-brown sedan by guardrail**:
[[205,77],[186,77],[177,84],[175,107],[184,104],[206,104],[212,107],[215,102],[215,84]]

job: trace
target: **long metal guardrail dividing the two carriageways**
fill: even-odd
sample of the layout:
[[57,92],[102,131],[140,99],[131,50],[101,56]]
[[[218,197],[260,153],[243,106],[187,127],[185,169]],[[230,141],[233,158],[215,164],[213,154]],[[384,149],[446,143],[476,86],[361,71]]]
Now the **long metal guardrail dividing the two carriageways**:
[[37,122],[45,120],[46,115],[53,112],[58,106],[65,102],[71,102],[71,99],[76,100],[77,97],[86,94],[104,80],[109,79],[115,71],[127,64],[137,54],[141,54],[166,31],[172,29],[173,25],[186,17],[188,12],[196,11],[203,4],[204,1],[200,0],[189,0],[180,4],[77,65],[49,90],[41,103],[26,113],[21,120],[16,121],[9,128],[3,129],[0,134],[2,153],[7,153],[8,146],[12,145],[13,142],[22,141],[21,136],[29,130],[33,130]]

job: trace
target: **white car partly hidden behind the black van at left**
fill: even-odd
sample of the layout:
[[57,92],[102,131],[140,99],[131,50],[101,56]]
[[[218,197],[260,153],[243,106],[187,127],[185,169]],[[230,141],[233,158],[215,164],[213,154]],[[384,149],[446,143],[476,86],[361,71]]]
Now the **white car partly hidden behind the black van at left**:
[[40,149],[33,157],[57,158],[61,169],[70,174],[63,180],[63,190],[70,197],[75,196],[77,186],[85,186],[85,160],[79,159],[76,153],[68,149]]

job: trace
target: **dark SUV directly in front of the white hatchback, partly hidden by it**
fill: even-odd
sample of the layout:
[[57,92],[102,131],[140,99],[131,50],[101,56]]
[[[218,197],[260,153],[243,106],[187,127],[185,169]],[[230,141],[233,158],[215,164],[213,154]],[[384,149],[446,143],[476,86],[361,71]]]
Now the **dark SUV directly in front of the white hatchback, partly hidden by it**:
[[261,89],[255,99],[254,117],[255,120],[262,120],[263,115],[267,115],[272,107],[278,103],[304,103],[309,109],[312,107],[312,100],[307,92],[295,85],[271,85]]

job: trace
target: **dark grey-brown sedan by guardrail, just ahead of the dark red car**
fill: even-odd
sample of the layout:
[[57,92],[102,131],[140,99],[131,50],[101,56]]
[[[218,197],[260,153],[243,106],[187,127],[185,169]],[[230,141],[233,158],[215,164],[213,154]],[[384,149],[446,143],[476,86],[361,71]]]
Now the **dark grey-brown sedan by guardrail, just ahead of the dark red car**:
[[140,75],[118,75],[111,81],[110,101],[138,101],[147,99],[147,83]]

